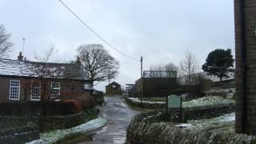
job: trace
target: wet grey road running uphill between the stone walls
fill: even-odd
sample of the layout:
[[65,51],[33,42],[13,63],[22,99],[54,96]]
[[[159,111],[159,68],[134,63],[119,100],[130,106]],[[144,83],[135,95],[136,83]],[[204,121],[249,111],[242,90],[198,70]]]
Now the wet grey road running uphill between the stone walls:
[[105,102],[98,108],[100,115],[109,121],[107,126],[93,133],[70,139],[65,143],[123,144],[126,142],[126,129],[130,120],[140,112],[132,110],[118,96],[106,97]]

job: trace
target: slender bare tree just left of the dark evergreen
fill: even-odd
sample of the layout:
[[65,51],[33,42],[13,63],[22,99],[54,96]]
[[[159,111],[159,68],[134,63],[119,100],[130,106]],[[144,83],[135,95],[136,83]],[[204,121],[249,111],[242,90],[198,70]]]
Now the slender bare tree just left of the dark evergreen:
[[199,72],[199,67],[198,59],[194,54],[186,52],[180,62],[180,74],[185,78],[186,85],[193,83],[193,75]]

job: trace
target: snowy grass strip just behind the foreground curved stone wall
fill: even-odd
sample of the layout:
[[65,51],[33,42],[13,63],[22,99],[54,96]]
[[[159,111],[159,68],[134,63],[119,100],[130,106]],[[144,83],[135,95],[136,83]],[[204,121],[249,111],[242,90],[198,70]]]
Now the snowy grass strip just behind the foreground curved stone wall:
[[192,129],[192,130],[206,130],[214,126],[220,127],[220,126],[230,125],[234,123],[234,121],[235,121],[235,114],[231,113],[231,114],[225,114],[216,118],[190,120],[187,123],[182,123],[176,126],[186,128],[186,129]]

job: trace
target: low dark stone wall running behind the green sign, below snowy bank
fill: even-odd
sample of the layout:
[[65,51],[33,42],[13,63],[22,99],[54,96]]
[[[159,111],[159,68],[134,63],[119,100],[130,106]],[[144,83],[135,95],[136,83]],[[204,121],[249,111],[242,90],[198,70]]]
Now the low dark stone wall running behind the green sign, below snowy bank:
[[[140,102],[134,102],[129,98],[125,98],[131,106],[140,107]],[[151,110],[163,110],[166,109],[166,105],[162,103],[142,103],[142,108]],[[203,118],[214,118],[221,116],[222,114],[230,114],[235,111],[234,103],[218,104],[212,106],[193,106],[183,107],[183,113],[185,120],[189,119],[203,119]]]

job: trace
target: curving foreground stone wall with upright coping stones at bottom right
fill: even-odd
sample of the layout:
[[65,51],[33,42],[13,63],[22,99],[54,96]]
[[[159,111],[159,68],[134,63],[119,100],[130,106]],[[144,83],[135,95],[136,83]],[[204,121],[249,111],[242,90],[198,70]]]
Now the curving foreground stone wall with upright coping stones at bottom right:
[[166,122],[160,122],[161,117],[159,112],[134,116],[127,129],[127,144],[256,143],[256,136],[189,130],[176,127],[170,122],[166,125]]

